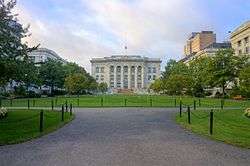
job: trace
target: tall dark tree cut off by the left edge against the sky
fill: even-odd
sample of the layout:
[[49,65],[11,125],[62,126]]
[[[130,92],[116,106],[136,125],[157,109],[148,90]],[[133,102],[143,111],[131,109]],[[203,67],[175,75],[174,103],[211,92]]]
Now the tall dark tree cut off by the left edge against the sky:
[[17,75],[18,63],[37,47],[29,48],[22,39],[29,36],[29,27],[24,28],[12,14],[16,0],[0,0],[0,83],[5,85]]

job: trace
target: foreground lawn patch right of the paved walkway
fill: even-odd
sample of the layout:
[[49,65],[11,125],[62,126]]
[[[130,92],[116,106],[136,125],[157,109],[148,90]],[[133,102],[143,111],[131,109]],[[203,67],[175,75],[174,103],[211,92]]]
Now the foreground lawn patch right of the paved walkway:
[[250,118],[244,116],[242,110],[214,111],[213,135],[209,134],[209,111],[192,111],[191,124],[188,124],[187,113],[180,118],[178,124],[194,133],[223,141],[228,144],[250,148]]

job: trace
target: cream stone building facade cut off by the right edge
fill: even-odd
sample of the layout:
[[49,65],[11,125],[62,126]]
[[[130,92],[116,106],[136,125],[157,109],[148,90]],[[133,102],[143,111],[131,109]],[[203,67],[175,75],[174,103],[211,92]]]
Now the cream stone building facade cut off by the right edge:
[[236,55],[250,54],[250,21],[235,29],[230,40]]

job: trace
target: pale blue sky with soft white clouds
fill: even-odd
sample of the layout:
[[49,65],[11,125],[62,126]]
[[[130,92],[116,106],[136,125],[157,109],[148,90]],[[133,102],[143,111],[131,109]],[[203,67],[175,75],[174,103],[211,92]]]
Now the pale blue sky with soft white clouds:
[[90,71],[91,58],[127,53],[183,57],[189,34],[212,30],[217,41],[250,20],[250,0],[17,0],[19,21],[40,44]]

